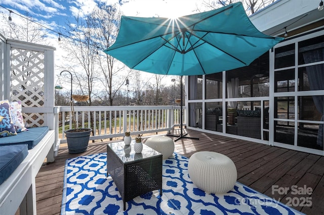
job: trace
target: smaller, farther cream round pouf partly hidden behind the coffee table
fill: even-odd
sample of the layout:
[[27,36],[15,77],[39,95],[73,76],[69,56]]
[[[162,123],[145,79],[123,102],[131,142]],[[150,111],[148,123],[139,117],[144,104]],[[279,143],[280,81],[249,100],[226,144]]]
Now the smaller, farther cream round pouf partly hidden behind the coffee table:
[[145,145],[161,153],[163,159],[171,157],[174,152],[174,142],[170,137],[150,137],[146,140]]

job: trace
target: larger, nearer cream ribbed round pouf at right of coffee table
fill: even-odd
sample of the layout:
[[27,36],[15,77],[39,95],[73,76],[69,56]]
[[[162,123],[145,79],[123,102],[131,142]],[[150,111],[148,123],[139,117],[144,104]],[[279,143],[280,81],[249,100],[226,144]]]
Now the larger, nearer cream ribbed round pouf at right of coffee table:
[[233,161],[224,154],[212,151],[192,154],[188,174],[193,184],[209,193],[226,193],[233,189],[237,179]]

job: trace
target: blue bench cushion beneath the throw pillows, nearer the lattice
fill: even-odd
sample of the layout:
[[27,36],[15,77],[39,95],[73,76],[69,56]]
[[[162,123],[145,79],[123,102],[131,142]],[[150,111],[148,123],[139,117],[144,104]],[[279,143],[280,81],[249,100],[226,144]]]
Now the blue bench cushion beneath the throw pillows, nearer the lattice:
[[48,126],[28,128],[28,131],[20,132],[16,136],[0,138],[0,146],[27,144],[28,149],[32,149],[43,139],[48,131]]

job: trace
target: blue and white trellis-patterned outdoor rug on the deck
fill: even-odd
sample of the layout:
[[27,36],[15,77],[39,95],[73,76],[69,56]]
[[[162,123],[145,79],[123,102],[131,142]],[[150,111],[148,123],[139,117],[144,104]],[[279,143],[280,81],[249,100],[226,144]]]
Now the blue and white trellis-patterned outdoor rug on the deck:
[[106,177],[106,153],[66,160],[61,214],[302,214],[240,183],[208,194],[188,176],[188,158],[163,160],[163,195],[155,190],[126,203]]

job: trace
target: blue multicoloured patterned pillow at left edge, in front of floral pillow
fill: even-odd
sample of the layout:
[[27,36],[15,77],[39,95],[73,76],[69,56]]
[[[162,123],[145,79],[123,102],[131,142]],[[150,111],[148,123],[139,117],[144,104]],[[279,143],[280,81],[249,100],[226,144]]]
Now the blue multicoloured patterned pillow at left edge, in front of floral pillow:
[[8,100],[0,101],[0,137],[17,135],[11,120],[10,104]]

